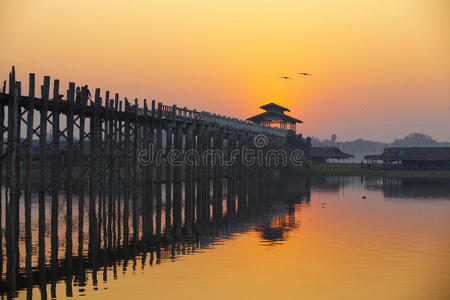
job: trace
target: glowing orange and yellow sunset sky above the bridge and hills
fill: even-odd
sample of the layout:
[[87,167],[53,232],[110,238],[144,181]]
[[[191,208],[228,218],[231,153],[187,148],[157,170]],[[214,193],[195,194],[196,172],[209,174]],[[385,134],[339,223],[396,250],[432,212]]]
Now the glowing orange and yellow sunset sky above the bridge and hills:
[[449,3],[1,0],[0,77],[240,118],[274,101],[320,138],[450,140]]

